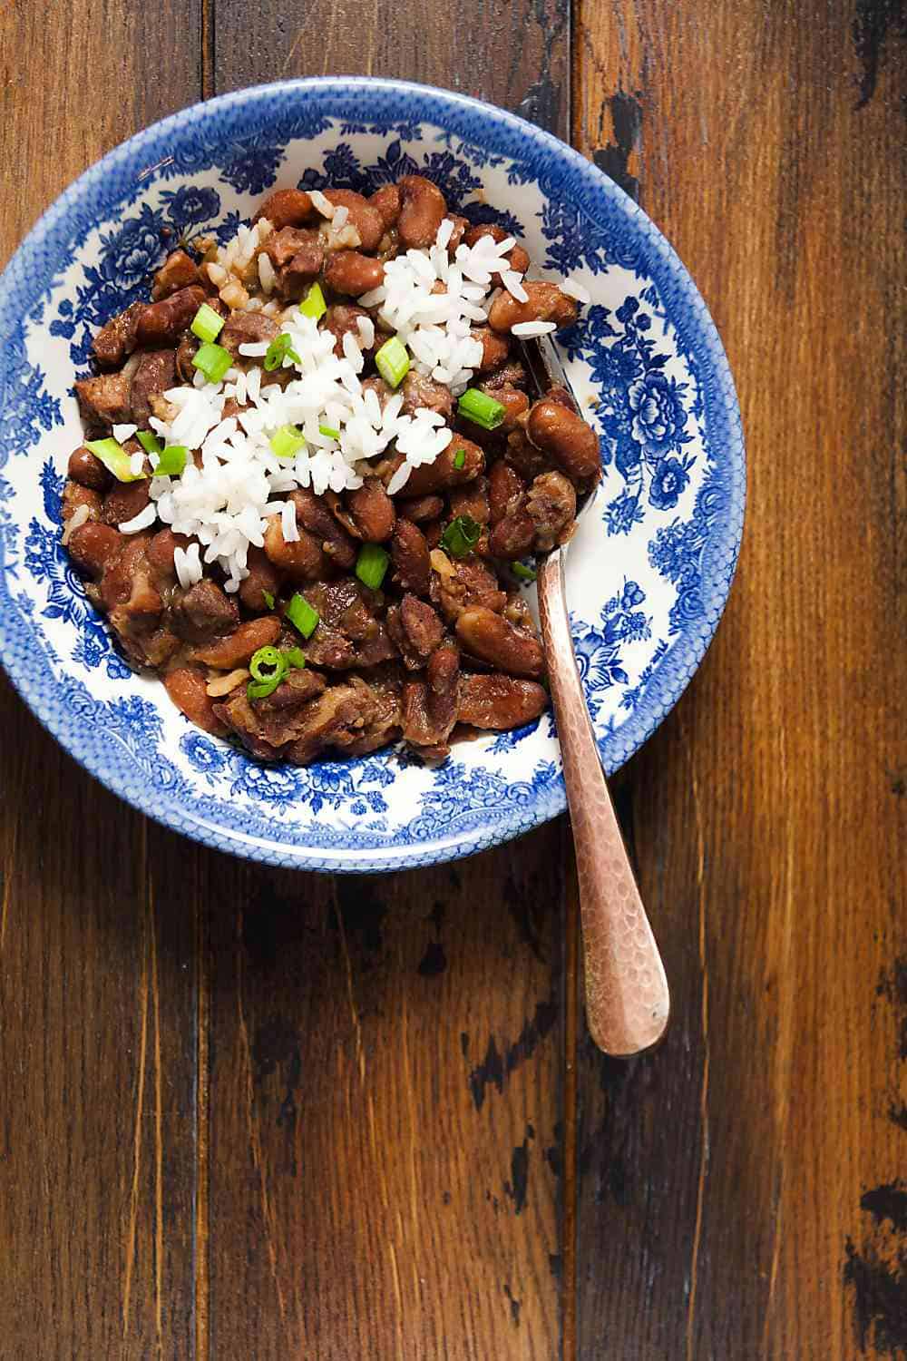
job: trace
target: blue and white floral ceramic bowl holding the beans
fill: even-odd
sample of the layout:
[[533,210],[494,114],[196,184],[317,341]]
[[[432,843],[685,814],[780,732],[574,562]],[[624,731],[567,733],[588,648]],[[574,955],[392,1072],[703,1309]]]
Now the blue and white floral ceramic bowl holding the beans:
[[0,656],[91,774],[199,841],[311,870],[465,856],[560,813],[548,715],[454,749],[430,770],[394,753],[262,766],[179,715],[113,649],[60,547],[80,440],[72,382],[91,338],[147,297],[162,230],[228,235],[273,185],[370,192],[437,180],[498,222],[536,272],[594,305],[564,358],[597,400],[605,467],[570,553],[574,637],[606,770],[661,723],[706,651],[744,516],[740,416],[721,342],[643,212],[563,143],[511,114],[403,82],[299,80],[196,105],[117,147],[54,203],[0,289]]

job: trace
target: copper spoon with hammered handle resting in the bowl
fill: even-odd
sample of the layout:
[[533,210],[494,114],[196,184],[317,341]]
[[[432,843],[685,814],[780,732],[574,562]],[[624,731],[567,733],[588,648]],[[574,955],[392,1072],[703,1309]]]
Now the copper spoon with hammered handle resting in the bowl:
[[[566,387],[567,374],[547,336],[525,346],[536,385]],[[592,499],[592,498],[589,498]],[[586,1023],[605,1053],[631,1057],[657,1044],[670,1013],[668,979],[598,755],[570,634],[564,581],[567,550],[538,563],[538,612],[551,698],[564,765],[577,852],[586,980]]]

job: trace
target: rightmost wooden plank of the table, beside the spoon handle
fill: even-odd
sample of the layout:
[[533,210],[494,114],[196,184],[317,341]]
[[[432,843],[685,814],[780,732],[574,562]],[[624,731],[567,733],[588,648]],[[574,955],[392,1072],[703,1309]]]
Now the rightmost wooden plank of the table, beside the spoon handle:
[[575,139],[699,282],[751,460],[728,615],[621,792],[674,1022],[581,1044],[589,1361],[907,1347],[896,8],[578,22]]

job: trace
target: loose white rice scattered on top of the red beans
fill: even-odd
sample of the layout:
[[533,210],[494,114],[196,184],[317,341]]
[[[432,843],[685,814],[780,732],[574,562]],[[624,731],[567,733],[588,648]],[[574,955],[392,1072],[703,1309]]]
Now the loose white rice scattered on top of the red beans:
[[[345,233],[355,235],[348,208],[335,208],[318,191],[310,197],[328,219],[322,229],[328,235],[337,240]],[[271,230],[264,218],[241,227],[207,265],[212,280],[219,287],[235,287],[241,271],[254,261],[261,290],[271,294],[275,271],[261,250]],[[378,309],[382,324],[409,348],[416,373],[431,374],[460,396],[481,363],[483,343],[472,335],[472,327],[487,321],[500,286],[521,302],[526,301],[526,290],[522,274],[511,269],[507,260],[515,245],[513,237],[495,242],[483,235],[473,246],[457,246],[450,259],[453,230],[451,219],[445,218],[435,245],[389,260],[381,287],[358,301],[360,306]],[[435,293],[438,283],[443,290]],[[577,289],[564,286],[571,297],[579,297]],[[407,485],[413,468],[434,463],[454,438],[435,411],[422,407],[413,415],[403,415],[401,392],[382,400],[371,389],[363,392],[359,377],[364,369],[363,351],[382,339],[370,317],[358,318],[356,331],[344,333],[339,358],[332,332],[320,329],[296,305],[272,298],[262,306],[258,297],[247,298],[243,306],[280,317],[281,332],[290,336],[298,355],[283,361],[290,381],[281,387],[264,373],[261,363],[268,344],[261,342],[239,346],[239,359],[222,382],[208,382],[199,373],[192,384],[165,392],[167,419],[152,416],[151,429],[165,444],[185,445],[200,457],[197,463],[190,457],[179,478],[152,476],[148,506],[120,525],[125,534],[136,534],[160,523],[189,538],[188,548],[174,550],[174,568],[184,588],[201,580],[204,551],[204,563],[216,563],[223,570],[224,589],[238,591],[249,576],[249,548],[262,546],[272,517],[279,516],[284,540],[298,540],[295,506],[290,499],[296,489],[310,487],[322,495],[328,489],[341,493],[360,487],[371,471],[369,461],[396,448],[403,463],[388,483],[393,495]],[[538,336],[555,329],[551,321],[526,321],[515,325],[513,333]],[[228,399],[235,399],[241,410],[224,418]],[[303,444],[292,459],[277,459],[271,438],[287,425],[301,431]],[[320,426],[337,430],[339,436],[325,436]],[[114,427],[114,437],[132,434],[135,426]],[[144,455],[133,455],[131,461],[133,471],[140,472]]]

